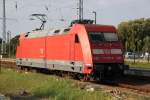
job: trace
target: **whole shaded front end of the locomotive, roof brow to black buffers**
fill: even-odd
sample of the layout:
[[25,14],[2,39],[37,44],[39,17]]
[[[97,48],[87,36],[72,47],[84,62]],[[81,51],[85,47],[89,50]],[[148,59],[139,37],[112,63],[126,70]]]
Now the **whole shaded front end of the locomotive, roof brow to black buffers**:
[[99,26],[88,32],[92,52],[93,72],[102,77],[123,74],[123,47],[113,26]]

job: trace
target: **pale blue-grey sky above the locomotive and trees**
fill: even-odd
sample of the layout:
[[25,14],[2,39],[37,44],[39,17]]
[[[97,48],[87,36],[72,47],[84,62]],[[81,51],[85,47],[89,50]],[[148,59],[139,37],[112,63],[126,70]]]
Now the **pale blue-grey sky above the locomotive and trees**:
[[[31,14],[46,14],[46,28],[67,27],[77,19],[79,0],[6,0],[7,31],[12,36],[21,32],[30,32],[40,26],[39,20],[30,20]],[[17,9],[16,9],[17,4]],[[84,0],[84,18],[94,19],[97,23],[117,25],[120,22],[150,17],[150,0]],[[0,0],[0,18],[2,18],[2,0]],[[64,21],[60,21],[64,19]],[[2,20],[0,19],[0,34]],[[1,36],[1,35],[0,35]]]

